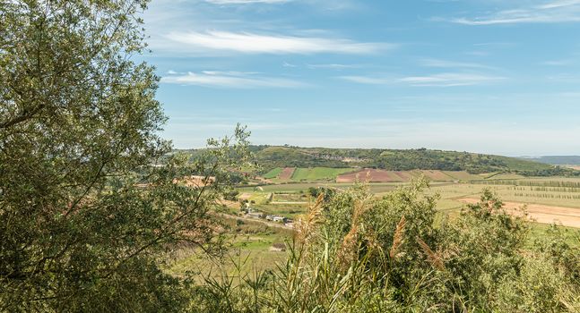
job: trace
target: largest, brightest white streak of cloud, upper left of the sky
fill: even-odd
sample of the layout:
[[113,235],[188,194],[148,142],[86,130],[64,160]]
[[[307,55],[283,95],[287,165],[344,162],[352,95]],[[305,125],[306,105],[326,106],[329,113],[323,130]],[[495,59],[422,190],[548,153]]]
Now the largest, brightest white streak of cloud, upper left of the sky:
[[167,38],[192,52],[221,50],[247,54],[373,54],[397,47],[394,44],[356,42],[343,38],[262,35],[250,32],[171,32]]

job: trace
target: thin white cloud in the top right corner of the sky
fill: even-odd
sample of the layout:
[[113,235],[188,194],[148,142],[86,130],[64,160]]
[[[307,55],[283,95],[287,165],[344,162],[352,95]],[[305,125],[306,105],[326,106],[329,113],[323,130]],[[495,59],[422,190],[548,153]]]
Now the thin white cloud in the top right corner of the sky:
[[542,1],[527,7],[500,10],[478,17],[435,20],[465,25],[574,22],[580,21],[580,0]]

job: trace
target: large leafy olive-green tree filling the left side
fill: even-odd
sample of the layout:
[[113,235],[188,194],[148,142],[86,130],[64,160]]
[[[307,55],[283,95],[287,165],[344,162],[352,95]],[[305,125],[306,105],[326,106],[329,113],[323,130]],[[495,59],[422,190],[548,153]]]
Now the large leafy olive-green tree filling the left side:
[[178,309],[161,257],[220,239],[247,133],[168,157],[158,78],[132,61],[146,4],[0,0],[0,311]]

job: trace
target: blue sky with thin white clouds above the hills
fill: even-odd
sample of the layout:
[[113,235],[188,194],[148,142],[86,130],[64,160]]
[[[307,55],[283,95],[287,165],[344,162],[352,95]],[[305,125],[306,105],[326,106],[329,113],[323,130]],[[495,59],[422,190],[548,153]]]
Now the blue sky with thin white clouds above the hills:
[[153,0],[176,148],[580,155],[580,0]]

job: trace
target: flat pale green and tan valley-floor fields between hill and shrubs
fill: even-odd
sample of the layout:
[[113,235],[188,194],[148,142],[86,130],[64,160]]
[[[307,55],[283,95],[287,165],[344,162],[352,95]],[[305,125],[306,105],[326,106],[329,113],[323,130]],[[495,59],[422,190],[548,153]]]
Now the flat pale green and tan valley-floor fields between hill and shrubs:
[[[382,170],[373,170],[372,173],[378,173],[379,177],[383,175],[383,178],[386,177],[392,181],[367,183],[368,190],[379,198],[408,182],[403,180],[402,173]],[[507,209],[514,210],[527,206],[529,216],[538,223],[561,223],[580,227],[579,178],[523,179],[514,174],[490,174],[490,178],[484,180],[480,175],[465,172],[412,171],[412,173],[417,176],[423,174],[434,181],[431,182],[429,192],[440,196],[437,208],[446,214],[454,215],[461,207],[477,201],[481,191],[487,188],[498,193],[498,196],[506,203]],[[348,176],[352,173],[344,175]],[[446,177],[447,180],[444,181]],[[398,180],[395,180],[397,178]],[[461,178],[464,180],[460,180]],[[248,199],[255,201],[255,207],[268,214],[295,218],[302,212],[306,212],[308,203],[312,201],[312,197],[307,193],[309,188],[345,190],[351,186],[352,182],[283,183],[261,186],[260,190],[244,188],[240,190],[240,193],[245,197],[251,195]]]

